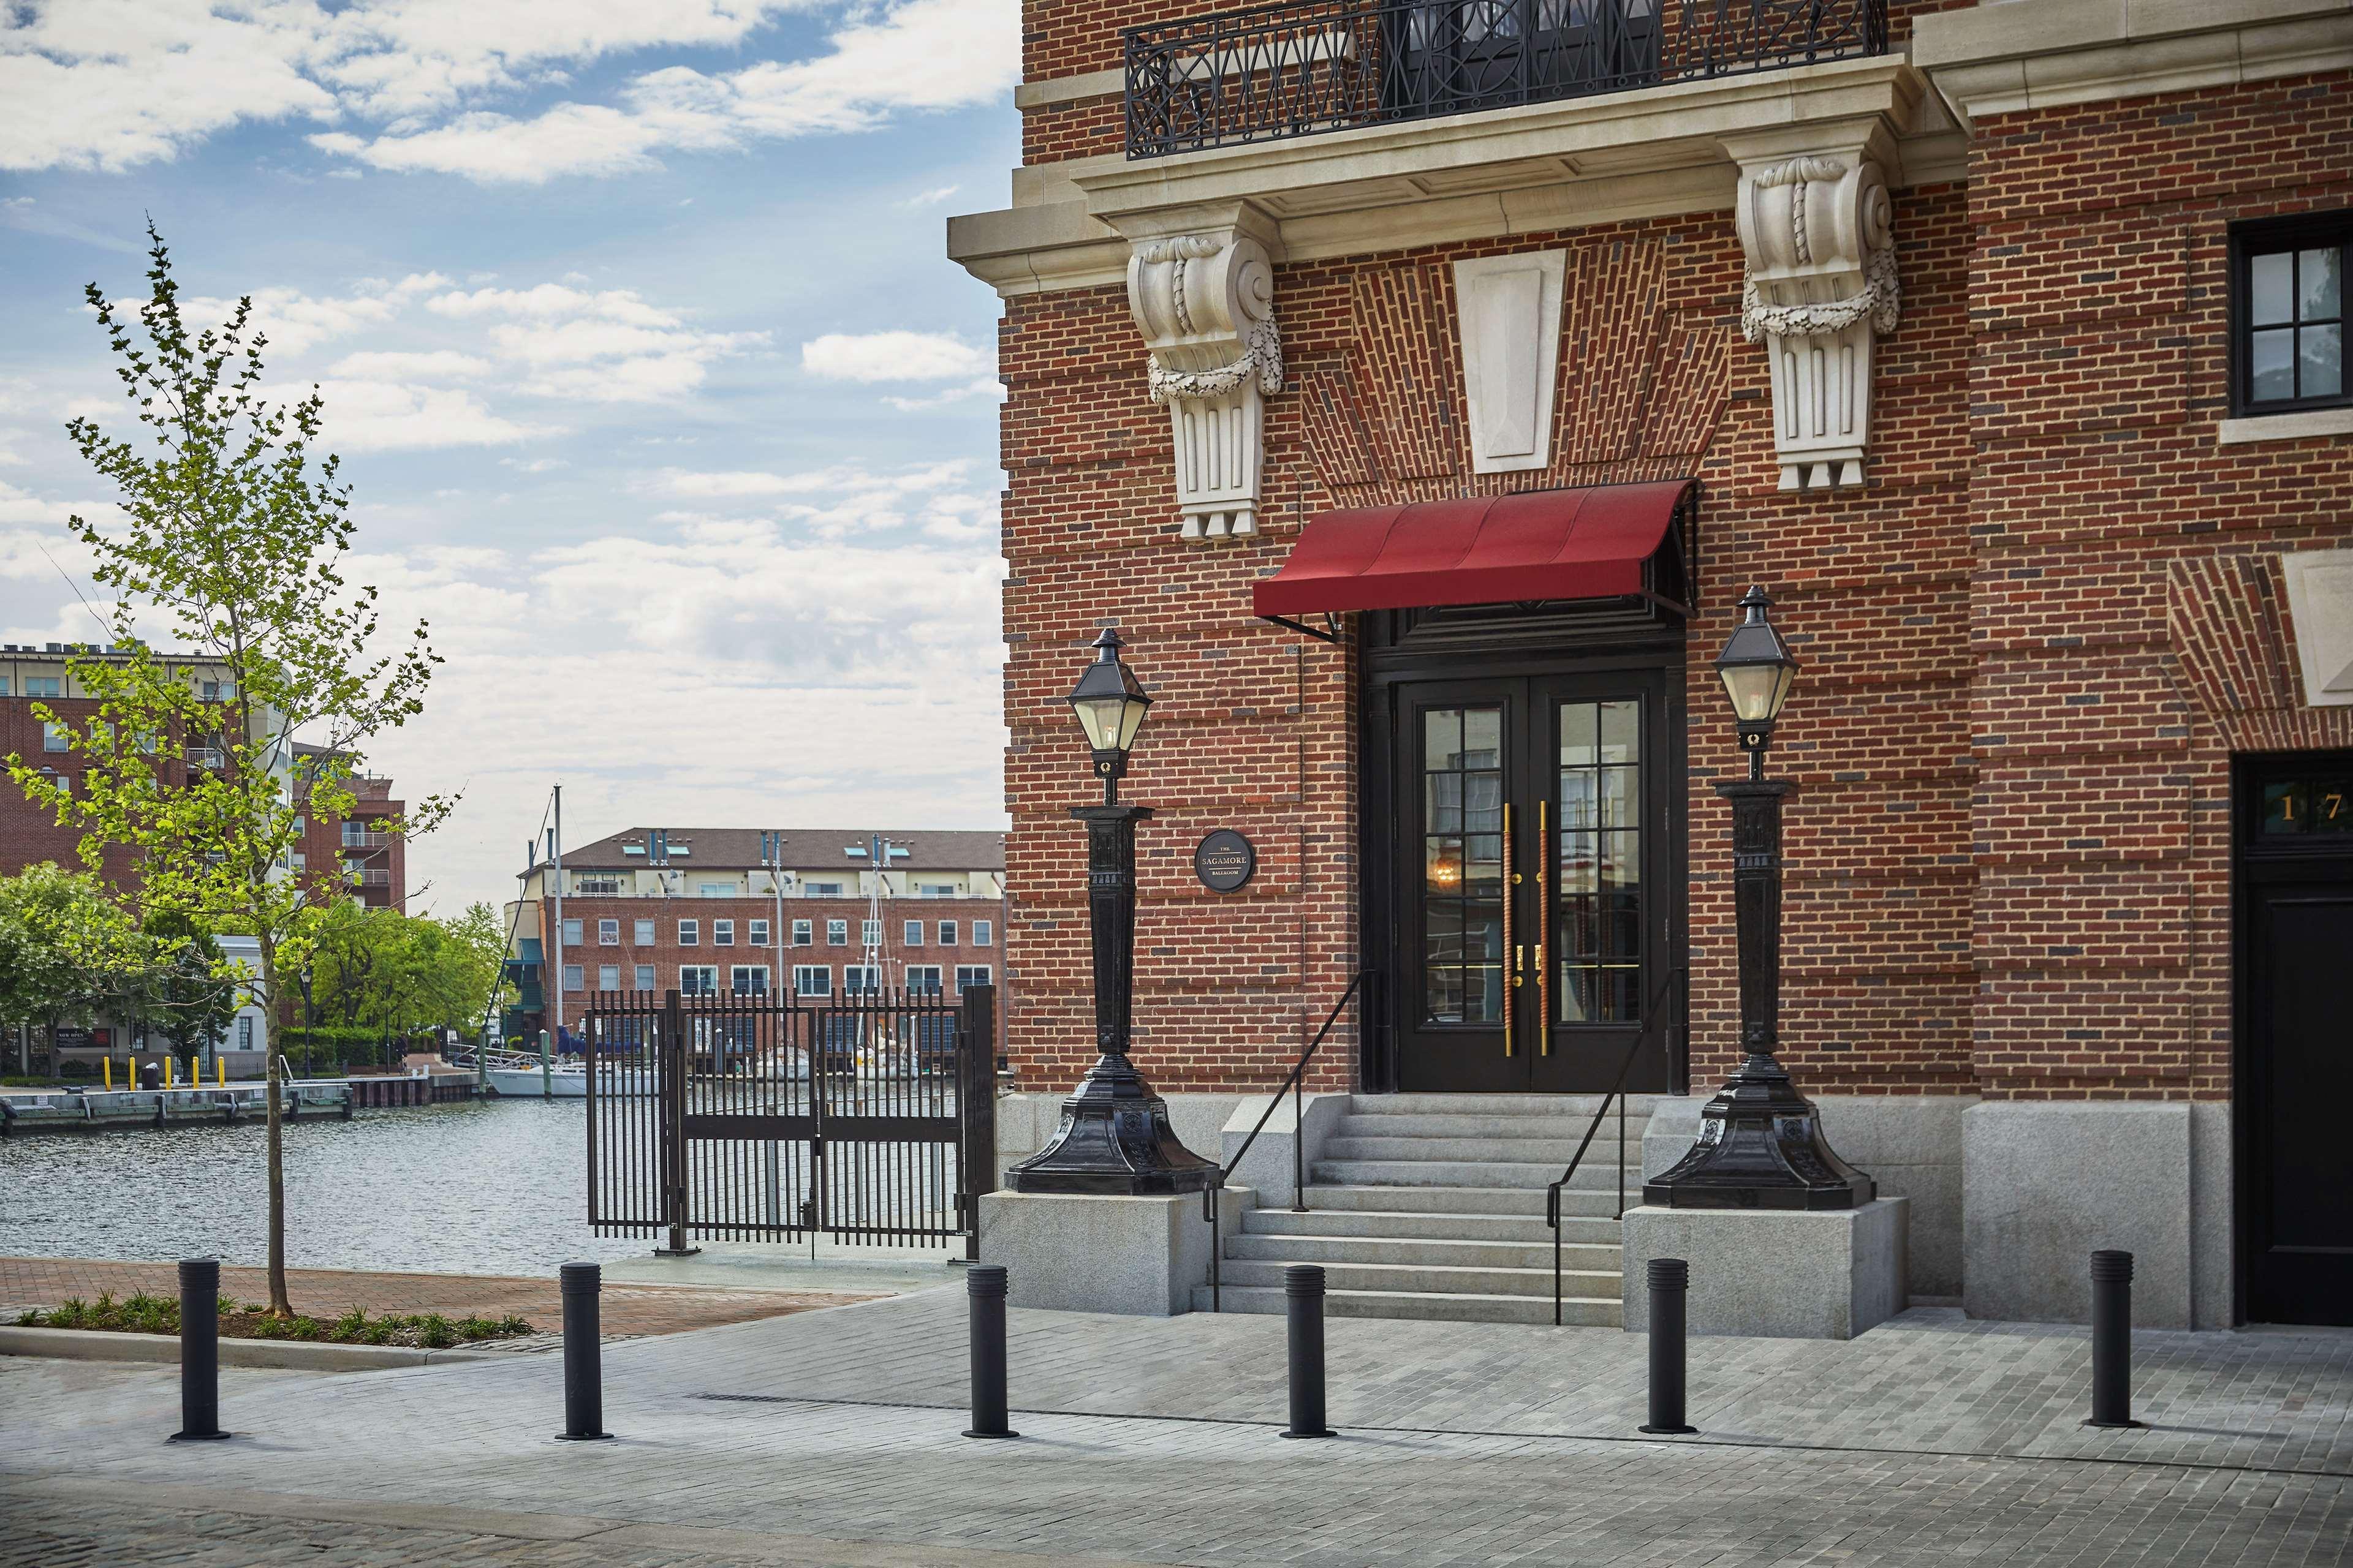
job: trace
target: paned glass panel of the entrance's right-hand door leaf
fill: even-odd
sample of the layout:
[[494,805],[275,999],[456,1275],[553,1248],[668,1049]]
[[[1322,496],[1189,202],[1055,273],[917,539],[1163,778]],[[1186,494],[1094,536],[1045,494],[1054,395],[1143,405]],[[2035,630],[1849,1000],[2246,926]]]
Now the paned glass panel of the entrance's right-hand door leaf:
[[1640,703],[1560,703],[1555,804],[1553,1020],[1640,1023]]

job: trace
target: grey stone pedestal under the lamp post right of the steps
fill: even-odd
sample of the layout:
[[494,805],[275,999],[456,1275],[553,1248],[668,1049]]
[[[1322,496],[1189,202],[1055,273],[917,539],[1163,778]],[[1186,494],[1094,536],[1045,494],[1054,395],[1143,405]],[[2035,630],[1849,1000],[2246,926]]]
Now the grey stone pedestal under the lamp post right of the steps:
[[1904,1309],[1911,1204],[1795,1213],[1772,1208],[1628,1208],[1626,1328],[1649,1328],[1647,1265],[1692,1265],[1692,1333],[1852,1340]]

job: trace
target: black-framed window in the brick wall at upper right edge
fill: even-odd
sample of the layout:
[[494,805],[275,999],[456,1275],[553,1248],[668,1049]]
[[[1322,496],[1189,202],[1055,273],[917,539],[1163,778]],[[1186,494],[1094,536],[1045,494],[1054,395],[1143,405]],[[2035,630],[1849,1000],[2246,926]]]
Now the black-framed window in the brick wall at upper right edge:
[[2297,414],[2346,395],[2346,249],[2353,212],[2247,223],[2231,235],[2231,407]]

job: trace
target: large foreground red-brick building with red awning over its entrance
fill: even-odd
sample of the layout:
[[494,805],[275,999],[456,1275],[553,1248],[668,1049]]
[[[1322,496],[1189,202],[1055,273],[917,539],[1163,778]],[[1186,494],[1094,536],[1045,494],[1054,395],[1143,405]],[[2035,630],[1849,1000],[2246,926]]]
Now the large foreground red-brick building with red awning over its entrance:
[[1781,1060],[1911,1199],[1913,1298],[2082,1316],[2127,1246],[2146,1321],[2353,1321],[2346,0],[1031,0],[1024,59],[948,249],[1005,310],[1033,1138],[1092,1058],[1061,698],[1115,623],[1193,1147],[1360,966],[1353,1124],[1633,1051],[1687,1147],[1760,583]]

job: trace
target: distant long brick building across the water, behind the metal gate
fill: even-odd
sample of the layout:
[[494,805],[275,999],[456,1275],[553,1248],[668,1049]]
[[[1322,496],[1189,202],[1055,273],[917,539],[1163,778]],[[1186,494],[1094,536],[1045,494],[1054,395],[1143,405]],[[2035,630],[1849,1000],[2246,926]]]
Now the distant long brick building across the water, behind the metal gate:
[[558,978],[562,1018],[609,992],[1005,985],[1002,832],[779,837],[762,853],[755,827],[631,827],[565,849],[560,922],[555,865],[534,865],[513,919],[518,1030],[558,1025]]

